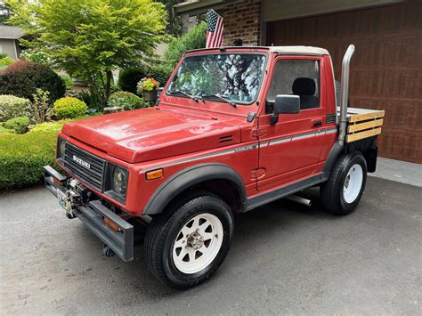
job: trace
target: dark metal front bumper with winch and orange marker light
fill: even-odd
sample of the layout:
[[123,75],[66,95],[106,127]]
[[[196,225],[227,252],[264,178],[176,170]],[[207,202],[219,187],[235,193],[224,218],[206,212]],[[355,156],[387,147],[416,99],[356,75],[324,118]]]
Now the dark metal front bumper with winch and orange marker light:
[[[44,166],[45,187],[60,199],[67,199],[69,218],[78,217],[101,241],[110,247],[123,261],[134,259],[134,226],[101,203],[101,199],[76,204],[80,200],[73,190],[68,190],[68,177],[58,173],[52,166]],[[63,198],[66,197],[66,198]],[[106,223],[108,222],[108,223]],[[110,224],[111,223],[111,224]],[[111,228],[113,226],[114,228]]]

